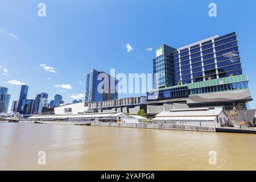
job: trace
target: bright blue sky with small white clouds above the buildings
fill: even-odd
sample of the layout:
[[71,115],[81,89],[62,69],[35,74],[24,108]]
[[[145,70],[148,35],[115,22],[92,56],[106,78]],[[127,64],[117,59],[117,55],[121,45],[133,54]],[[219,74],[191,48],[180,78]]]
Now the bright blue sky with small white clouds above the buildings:
[[[46,4],[46,17],[38,16],[40,2]],[[18,100],[20,86],[7,82],[16,80],[30,86],[30,99],[47,92],[49,100],[61,94],[71,102],[70,96],[85,93],[84,73],[92,68],[152,73],[155,53],[147,48],[162,43],[179,48],[236,31],[243,72],[256,98],[256,1],[214,0],[217,17],[208,15],[210,2],[1,0],[0,86],[9,88],[11,101]],[[127,43],[133,48],[130,52]],[[64,88],[54,86],[61,84]],[[67,84],[72,89],[65,89]],[[255,108],[256,102],[250,106]]]

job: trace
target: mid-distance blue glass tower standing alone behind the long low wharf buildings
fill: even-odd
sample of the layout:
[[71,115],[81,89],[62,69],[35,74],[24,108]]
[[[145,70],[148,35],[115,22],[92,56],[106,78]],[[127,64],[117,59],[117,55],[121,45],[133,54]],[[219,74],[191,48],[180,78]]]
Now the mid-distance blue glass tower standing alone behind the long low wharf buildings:
[[[98,78],[99,77],[99,78]],[[101,86],[100,84],[104,84]],[[115,100],[118,92],[115,89],[118,80],[105,72],[92,69],[86,76],[85,102],[102,102]]]

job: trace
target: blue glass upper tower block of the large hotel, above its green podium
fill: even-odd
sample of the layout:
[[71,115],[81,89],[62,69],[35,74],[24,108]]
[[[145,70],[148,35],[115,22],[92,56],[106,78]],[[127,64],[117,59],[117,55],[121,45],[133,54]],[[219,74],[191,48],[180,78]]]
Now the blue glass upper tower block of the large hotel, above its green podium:
[[220,37],[213,36],[178,49],[162,45],[155,51],[155,89],[242,75],[235,32]]

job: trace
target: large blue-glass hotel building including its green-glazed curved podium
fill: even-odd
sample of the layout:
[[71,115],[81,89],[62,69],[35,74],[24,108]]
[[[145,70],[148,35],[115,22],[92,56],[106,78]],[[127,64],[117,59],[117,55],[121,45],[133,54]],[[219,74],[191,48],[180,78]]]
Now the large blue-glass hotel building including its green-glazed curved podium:
[[247,109],[249,79],[242,72],[236,32],[173,48],[162,44],[153,60],[154,89],[147,104]]

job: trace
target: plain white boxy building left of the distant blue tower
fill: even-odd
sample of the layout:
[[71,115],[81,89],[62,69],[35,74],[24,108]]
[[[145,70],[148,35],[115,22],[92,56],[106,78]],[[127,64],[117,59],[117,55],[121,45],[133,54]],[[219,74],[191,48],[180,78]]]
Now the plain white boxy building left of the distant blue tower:
[[87,110],[88,107],[85,106],[84,102],[54,108],[55,114],[82,114],[85,113]]

